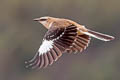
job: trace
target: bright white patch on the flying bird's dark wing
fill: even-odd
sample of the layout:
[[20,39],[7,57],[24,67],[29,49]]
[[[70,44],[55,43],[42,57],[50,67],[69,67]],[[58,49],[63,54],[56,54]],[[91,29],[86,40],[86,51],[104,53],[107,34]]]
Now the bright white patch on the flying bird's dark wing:
[[53,48],[53,40],[50,40],[50,41],[44,40],[42,45],[40,46],[40,48],[38,50],[39,51],[39,56],[41,54],[44,54],[44,53],[50,51],[51,48]]

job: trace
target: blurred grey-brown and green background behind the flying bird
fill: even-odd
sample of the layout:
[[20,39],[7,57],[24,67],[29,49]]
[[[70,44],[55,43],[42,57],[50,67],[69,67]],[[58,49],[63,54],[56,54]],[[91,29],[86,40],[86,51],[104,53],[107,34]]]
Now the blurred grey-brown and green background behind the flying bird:
[[[86,51],[64,54],[46,69],[25,68],[47,31],[33,19],[72,19],[115,36],[93,39]],[[120,0],[0,0],[0,80],[120,80]]]

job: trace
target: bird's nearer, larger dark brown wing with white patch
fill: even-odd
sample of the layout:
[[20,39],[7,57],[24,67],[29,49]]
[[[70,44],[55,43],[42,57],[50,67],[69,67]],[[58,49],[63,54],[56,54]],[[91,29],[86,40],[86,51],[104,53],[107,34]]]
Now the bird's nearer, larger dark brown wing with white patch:
[[26,62],[27,67],[39,69],[51,65],[72,46],[76,36],[77,27],[74,25],[65,28],[51,27],[45,34],[42,45],[34,58]]

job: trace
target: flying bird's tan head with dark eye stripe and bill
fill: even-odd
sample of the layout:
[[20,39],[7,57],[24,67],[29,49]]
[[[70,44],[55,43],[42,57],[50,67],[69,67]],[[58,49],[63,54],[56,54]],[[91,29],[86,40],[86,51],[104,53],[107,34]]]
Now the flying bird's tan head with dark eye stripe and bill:
[[50,28],[50,24],[55,20],[56,18],[45,16],[40,18],[35,18],[34,21],[38,21],[42,25],[44,25],[47,29]]

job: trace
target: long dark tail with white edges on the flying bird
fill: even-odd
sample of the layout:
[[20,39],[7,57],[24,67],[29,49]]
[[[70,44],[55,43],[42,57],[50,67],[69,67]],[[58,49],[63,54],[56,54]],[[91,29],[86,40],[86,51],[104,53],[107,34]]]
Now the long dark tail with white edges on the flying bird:
[[92,30],[88,30],[88,32],[83,32],[83,33],[86,34],[86,35],[89,35],[91,37],[97,38],[99,40],[102,40],[102,41],[110,41],[110,40],[114,39],[113,36],[106,35],[106,34],[99,33],[99,32],[95,32],[95,31],[92,31]]

